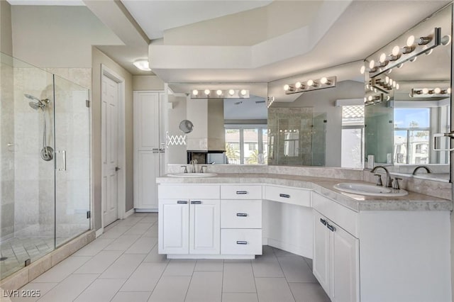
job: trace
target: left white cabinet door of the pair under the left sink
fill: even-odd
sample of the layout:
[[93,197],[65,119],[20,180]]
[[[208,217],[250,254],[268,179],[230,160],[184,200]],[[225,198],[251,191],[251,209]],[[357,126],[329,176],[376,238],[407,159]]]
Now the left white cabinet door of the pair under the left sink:
[[161,199],[158,213],[158,252],[187,254],[189,252],[189,201]]

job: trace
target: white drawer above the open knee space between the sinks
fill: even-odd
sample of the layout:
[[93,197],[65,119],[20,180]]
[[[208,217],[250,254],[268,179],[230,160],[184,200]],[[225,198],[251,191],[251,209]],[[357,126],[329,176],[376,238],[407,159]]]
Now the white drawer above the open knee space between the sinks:
[[289,188],[288,186],[270,186],[265,189],[265,199],[291,203],[297,206],[311,206],[311,191],[306,189]]

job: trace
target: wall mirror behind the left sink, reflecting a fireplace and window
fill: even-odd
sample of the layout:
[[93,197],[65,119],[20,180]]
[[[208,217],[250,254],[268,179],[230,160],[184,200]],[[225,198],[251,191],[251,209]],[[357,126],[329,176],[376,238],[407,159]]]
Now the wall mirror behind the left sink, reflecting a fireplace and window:
[[167,148],[170,164],[267,164],[267,83],[168,84],[167,133],[194,123],[186,144]]

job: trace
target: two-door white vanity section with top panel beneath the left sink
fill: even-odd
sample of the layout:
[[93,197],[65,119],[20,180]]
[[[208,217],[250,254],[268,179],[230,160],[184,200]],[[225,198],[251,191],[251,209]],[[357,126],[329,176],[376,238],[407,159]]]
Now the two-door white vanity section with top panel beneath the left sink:
[[158,187],[158,251],[172,255],[219,255],[221,201],[218,185]]

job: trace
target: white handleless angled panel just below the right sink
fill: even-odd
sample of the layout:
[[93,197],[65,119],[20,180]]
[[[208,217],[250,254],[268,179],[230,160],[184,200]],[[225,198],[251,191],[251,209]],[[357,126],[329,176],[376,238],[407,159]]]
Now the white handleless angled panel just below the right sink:
[[316,192],[312,192],[312,206],[333,223],[340,225],[358,238],[358,213]]

